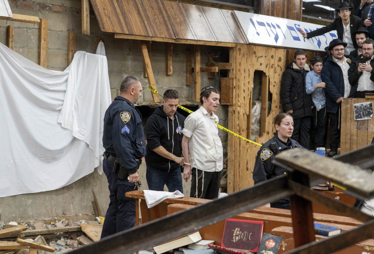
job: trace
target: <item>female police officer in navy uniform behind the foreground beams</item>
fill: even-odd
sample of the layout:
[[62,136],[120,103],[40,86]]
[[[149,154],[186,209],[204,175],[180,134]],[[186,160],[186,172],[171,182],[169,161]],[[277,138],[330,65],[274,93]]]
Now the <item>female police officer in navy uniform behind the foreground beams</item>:
[[[273,164],[275,155],[295,147],[303,148],[299,143],[291,139],[294,130],[294,120],[291,115],[287,113],[278,114],[274,118],[274,126],[276,129],[275,136],[264,143],[257,152],[253,170],[255,184],[286,174],[283,168]],[[290,209],[289,198],[279,199],[272,204],[268,203],[264,206]]]

